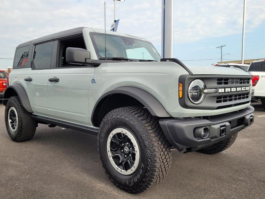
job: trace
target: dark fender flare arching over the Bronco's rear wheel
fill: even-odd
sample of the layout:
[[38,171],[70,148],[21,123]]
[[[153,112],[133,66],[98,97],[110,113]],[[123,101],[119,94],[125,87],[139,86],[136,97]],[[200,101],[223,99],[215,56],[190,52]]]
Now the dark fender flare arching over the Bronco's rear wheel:
[[30,106],[30,101],[29,101],[28,95],[27,95],[24,87],[22,85],[20,85],[20,84],[13,84],[13,85],[8,86],[5,89],[3,105],[6,105],[8,99],[10,97],[14,96],[13,95],[13,93],[14,93],[13,91],[15,91],[17,93],[23,108],[26,111],[28,111],[30,113],[33,113],[32,109],[31,109],[31,106]]

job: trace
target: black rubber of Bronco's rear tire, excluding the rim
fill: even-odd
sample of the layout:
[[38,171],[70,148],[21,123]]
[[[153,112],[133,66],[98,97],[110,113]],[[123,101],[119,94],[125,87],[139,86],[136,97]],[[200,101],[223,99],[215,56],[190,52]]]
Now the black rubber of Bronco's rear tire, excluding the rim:
[[[33,138],[35,134],[36,127],[38,125],[37,122],[31,118],[32,114],[27,112],[23,108],[18,96],[10,97],[8,102],[13,102],[13,104],[15,104],[16,106],[15,108],[17,109],[17,115],[18,115],[18,122],[19,122],[17,136],[15,138],[12,138],[11,135],[9,134],[9,137],[15,142],[23,142],[30,140],[31,138]],[[7,123],[8,108],[9,108],[8,102],[5,107],[5,123],[7,131],[9,128],[9,125]]]

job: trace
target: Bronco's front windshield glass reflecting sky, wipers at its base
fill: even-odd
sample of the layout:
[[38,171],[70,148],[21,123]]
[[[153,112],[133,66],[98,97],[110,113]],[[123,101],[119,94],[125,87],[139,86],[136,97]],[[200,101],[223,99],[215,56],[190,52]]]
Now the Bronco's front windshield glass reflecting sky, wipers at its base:
[[[105,57],[105,34],[90,33],[98,59]],[[161,56],[154,46],[147,41],[131,37],[106,34],[106,57],[123,57],[139,61],[160,61]]]

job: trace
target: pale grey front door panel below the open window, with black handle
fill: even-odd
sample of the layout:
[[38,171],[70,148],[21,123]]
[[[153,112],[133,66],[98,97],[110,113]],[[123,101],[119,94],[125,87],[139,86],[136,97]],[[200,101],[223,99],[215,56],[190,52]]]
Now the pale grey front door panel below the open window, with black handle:
[[89,79],[92,68],[55,68],[48,76],[50,117],[89,125]]

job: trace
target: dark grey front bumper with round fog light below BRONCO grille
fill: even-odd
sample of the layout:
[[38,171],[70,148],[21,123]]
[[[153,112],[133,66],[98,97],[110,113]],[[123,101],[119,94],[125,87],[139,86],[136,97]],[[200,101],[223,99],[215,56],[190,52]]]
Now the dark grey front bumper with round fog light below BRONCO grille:
[[[192,152],[218,143],[254,122],[254,108],[211,118],[160,119],[159,123],[170,144],[177,149]],[[198,131],[208,129],[206,138],[199,138]],[[207,130],[206,129],[206,130]]]

